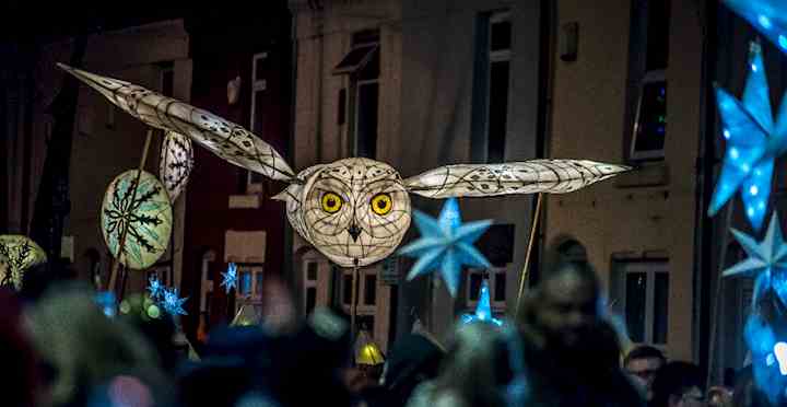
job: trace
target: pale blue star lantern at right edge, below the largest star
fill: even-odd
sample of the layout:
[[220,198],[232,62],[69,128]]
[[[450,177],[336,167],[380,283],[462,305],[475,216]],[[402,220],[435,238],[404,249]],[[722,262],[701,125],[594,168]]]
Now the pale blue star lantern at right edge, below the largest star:
[[724,277],[755,277],[752,305],[762,296],[764,290],[773,288],[783,304],[787,305],[787,245],[782,237],[778,216],[774,212],[767,232],[762,242],[735,229],[735,239],[740,243],[749,258],[726,269]]

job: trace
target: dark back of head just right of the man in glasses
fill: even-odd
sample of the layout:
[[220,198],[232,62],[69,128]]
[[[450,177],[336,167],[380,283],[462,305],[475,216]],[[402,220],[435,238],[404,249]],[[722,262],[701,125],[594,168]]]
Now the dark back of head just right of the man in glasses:
[[705,392],[697,365],[689,362],[669,362],[656,373],[653,383],[654,407],[700,407]]

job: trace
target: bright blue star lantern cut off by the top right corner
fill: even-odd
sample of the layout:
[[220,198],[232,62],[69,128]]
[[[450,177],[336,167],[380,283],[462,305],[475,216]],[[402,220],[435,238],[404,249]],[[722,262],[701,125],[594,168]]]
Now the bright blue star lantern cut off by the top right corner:
[[787,3],[784,0],[723,0],[762,35],[787,53]]

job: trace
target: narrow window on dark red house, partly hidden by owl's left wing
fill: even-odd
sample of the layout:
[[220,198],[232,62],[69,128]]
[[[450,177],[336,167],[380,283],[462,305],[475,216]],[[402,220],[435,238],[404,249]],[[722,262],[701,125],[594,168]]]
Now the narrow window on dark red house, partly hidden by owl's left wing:
[[[265,104],[267,75],[269,70],[268,53],[255,54],[251,58],[251,113],[249,115],[249,129],[257,137],[265,140]],[[266,177],[262,174],[248,172],[246,183],[247,194],[265,194]]]

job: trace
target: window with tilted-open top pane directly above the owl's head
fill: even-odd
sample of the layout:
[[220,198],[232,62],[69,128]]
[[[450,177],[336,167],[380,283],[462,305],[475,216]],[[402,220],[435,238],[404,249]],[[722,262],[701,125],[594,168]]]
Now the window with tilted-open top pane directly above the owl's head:
[[[379,107],[380,72],[379,32],[367,30],[353,35],[353,46],[333,68],[333,74],[346,74],[350,89],[339,93],[338,123],[344,124],[350,113],[349,135],[353,156],[374,159],[377,155],[377,111]],[[350,96],[346,101],[346,96]]]

